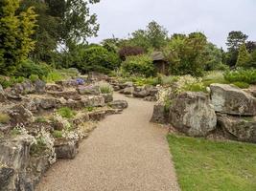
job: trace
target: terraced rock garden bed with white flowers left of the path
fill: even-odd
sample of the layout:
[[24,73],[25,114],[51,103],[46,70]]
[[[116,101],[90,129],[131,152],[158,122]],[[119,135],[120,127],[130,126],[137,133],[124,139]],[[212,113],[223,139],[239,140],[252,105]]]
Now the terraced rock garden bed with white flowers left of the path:
[[82,78],[0,87],[0,103],[1,191],[35,190],[53,163],[76,157],[97,121],[128,107],[108,83]]

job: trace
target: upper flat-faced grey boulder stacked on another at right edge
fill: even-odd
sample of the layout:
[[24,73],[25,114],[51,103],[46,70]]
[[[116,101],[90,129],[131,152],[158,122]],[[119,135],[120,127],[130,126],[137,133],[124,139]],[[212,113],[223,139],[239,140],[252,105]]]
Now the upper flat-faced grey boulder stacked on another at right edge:
[[211,99],[215,111],[238,116],[256,116],[256,98],[236,86],[212,84]]

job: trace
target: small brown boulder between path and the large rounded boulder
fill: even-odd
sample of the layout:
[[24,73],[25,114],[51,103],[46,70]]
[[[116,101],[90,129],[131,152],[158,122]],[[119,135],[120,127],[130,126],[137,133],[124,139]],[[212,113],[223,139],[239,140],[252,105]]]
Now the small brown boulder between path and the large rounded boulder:
[[156,104],[153,106],[153,113],[151,117],[151,122],[164,124],[168,120],[168,112],[166,107],[162,104]]

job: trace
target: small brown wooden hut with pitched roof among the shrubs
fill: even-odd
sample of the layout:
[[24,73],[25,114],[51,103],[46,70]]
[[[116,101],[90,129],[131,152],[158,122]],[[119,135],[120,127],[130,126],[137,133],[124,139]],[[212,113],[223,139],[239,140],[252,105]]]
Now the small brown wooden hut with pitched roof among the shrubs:
[[153,65],[157,70],[157,73],[167,75],[169,71],[169,63],[165,59],[164,54],[162,52],[153,52],[151,54],[151,58],[153,61]]

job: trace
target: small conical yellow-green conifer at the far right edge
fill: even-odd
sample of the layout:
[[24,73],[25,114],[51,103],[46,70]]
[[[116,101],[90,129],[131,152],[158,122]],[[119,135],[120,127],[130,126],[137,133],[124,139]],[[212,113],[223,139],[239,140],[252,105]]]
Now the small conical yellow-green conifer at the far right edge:
[[239,49],[236,67],[248,67],[251,59],[251,55],[247,52],[245,44],[243,44]]

